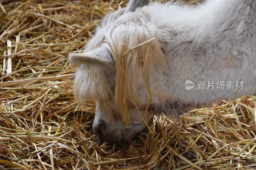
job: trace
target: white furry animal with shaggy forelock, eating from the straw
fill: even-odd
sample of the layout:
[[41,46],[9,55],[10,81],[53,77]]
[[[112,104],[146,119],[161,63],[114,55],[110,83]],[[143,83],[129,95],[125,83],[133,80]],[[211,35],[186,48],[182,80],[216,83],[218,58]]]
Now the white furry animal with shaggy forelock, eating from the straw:
[[[100,140],[128,142],[144,128],[143,117],[179,117],[256,92],[256,0],[196,7],[131,0],[103,18],[86,52],[70,54],[69,62],[77,67],[76,100],[97,100],[93,129]],[[186,90],[186,80],[244,83]]]

